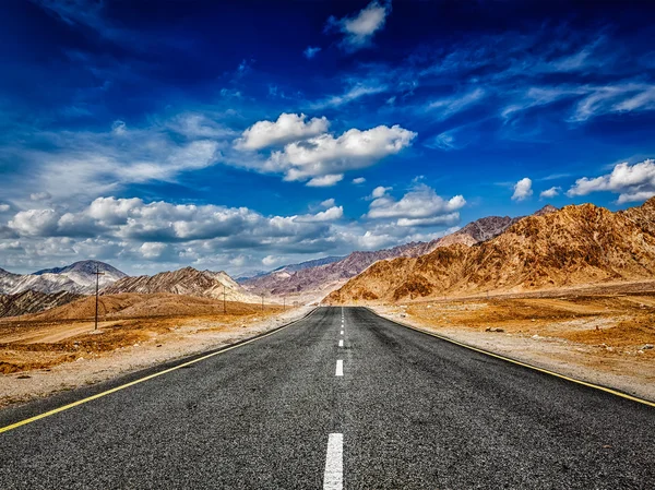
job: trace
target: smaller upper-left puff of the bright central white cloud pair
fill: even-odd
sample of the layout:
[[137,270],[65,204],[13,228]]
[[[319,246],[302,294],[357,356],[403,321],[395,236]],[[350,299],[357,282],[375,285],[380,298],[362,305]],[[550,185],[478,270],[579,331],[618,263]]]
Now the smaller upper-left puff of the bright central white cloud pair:
[[261,150],[267,146],[279,145],[293,141],[317,136],[327,131],[327,119],[313,118],[306,121],[303,113],[285,113],[277,121],[259,121],[243,131],[240,139],[235,142],[240,150]]

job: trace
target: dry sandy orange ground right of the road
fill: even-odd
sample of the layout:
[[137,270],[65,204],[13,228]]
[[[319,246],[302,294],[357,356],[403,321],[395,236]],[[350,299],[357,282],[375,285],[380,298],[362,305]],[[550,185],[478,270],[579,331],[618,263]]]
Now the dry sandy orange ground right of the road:
[[652,285],[529,296],[373,309],[469,345],[655,401]]

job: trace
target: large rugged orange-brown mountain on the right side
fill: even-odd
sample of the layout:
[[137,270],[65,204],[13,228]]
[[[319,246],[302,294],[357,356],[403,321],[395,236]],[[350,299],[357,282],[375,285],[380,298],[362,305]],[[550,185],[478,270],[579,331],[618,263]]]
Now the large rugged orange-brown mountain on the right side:
[[655,198],[611,213],[583,204],[527,216],[474,247],[378,262],[326,299],[397,301],[655,278]]

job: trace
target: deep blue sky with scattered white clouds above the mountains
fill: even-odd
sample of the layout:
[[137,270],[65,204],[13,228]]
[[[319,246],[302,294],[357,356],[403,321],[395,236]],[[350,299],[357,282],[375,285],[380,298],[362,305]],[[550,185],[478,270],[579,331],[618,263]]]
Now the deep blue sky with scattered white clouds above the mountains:
[[10,271],[242,274],[655,195],[647,2],[2,9]]

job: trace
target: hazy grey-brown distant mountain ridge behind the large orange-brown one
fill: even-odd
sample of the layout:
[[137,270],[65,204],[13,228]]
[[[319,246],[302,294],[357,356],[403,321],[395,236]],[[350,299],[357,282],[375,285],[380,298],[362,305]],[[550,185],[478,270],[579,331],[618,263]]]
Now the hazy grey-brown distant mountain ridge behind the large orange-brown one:
[[412,242],[372,252],[353,252],[327,264],[310,265],[295,270],[296,266],[286,266],[263,276],[242,280],[241,285],[251,291],[266,291],[274,296],[291,296],[305,301],[315,300],[341,287],[349,278],[355,277],[378,261],[400,256],[420,256],[439,247],[453,243],[473,246],[496,237],[517,219],[521,218],[489,216],[472,222],[454,234],[429,242]]

